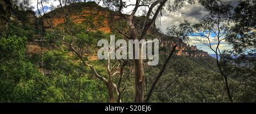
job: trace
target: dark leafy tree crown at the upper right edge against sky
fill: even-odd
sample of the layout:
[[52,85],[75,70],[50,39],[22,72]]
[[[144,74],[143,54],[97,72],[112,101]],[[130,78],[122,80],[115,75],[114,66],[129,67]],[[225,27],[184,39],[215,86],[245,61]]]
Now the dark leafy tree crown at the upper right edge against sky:
[[240,1],[234,8],[232,20],[234,26],[230,28],[227,41],[232,43],[239,54],[246,51],[255,52],[255,0]]

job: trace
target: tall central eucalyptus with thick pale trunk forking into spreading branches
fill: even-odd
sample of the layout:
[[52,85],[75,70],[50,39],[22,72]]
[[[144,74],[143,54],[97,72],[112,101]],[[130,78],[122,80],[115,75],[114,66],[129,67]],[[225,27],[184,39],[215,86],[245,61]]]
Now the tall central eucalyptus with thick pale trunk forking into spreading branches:
[[[146,34],[150,30],[150,28],[154,25],[156,17],[160,14],[167,0],[156,0],[156,1],[140,1],[137,0],[135,2],[135,6],[130,15],[123,15],[122,9],[124,7],[130,6],[126,5],[126,2],[122,0],[115,1],[117,3],[117,8],[119,14],[121,14],[127,23],[128,36],[126,36],[130,40],[144,40]],[[177,9],[183,6],[184,1],[175,1],[174,5],[167,5],[169,11],[176,11]],[[119,3],[119,4],[118,4]],[[194,1],[190,0],[188,3],[194,3]],[[144,21],[142,25],[135,24],[135,14],[139,7],[148,7],[146,11],[146,16],[144,17]],[[152,13],[155,10],[154,13]],[[121,33],[123,34],[123,33]],[[135,44],[136,45],[136,44]],[[135,46],[134,45],[134,46]],[[135,49],[135,47],[134,47]],[[135,50],[133,52],[135,54]],[[142,45],[139,45],[139,59],[134,59],[134,75],[135,75],[135,95],[134,102],[144,102],[144,89],[143,89],[143,60],[142,60]],[[156,81],[157,82],[157,81]],[[154,88],[154,87],[153,87]]]

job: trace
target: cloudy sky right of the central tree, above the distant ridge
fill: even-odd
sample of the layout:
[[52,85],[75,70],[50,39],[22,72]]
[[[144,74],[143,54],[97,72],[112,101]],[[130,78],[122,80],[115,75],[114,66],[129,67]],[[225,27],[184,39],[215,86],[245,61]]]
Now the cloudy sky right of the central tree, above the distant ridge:
[[[232,6],[237,6],[238,0],[231,1]],[[188,3],[185,3],[180,10],[177,10],[174,13],[163,10],[162,14],[163,16],[159,16],[158,20],[156,20],[156,26],[163,32],[166,32],[166,28],[171,27],[171,25],[179,25],[183,22],[184,19],[188,20],[191,24],[199,23],[200,20],[208,14],[208,12],[204,9],[203,6],[196,2],[194,5],[189,5]],[[209,54],[213,54],[214,52],[208,46],[205,46],[201,43],[201,41],[204,40],[205,39],[201,39],[200,37],[189,36],[189,45],[197,46],[197,49],[207,51]],[[211,37],[210,41],[213,43],[213,47],[216,47],[216,45],[214,44],[217,43],[217,39]],[[219,47],[220,50],[230,50],[233,46],[228,45],[224,40]]]

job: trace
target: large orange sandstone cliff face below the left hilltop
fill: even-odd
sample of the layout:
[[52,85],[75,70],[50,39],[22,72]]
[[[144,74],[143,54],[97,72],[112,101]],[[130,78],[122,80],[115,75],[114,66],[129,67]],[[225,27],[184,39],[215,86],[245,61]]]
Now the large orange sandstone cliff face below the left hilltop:
[[[116,12],[98,6],[95,2],[73,3],[63,8],[65,15],[75,23],[93,24],[96,29],[105,33],[112,33],[112,23],[121,18]],[[48,12],[44,17],[51,23],[52,27],[64,23],[64,16],[60,8]],[[43,29],[49,29],[50,27],[46,21],[41,20]]]

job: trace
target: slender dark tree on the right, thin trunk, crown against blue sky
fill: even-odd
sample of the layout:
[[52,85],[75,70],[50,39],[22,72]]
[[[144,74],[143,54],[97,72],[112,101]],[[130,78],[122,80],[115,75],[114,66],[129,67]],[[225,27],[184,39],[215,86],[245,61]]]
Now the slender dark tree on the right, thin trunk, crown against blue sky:
[[[220,45],[226,40],[229,30],[229,16],[232,6],[223,1],[199,1],[209,11],[200,24],[193,25],[192,36],[201,38],[201,43],[209,47],[216,55],[216,64],[224,78],[225,88],[230,102],[233,102],[228,84],[228,77],[236,70],[236,65],[230,67],[223,61]],[[205,40],[206,39],[206,40]],[[213,40],[213,41],[212,41]]]

